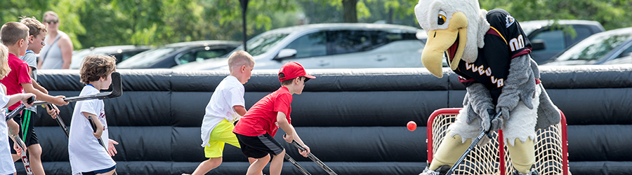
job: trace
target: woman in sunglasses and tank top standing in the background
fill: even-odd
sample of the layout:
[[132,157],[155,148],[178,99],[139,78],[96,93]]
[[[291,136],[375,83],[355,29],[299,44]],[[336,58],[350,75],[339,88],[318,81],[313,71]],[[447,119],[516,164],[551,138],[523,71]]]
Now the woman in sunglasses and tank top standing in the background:
[[44,48],[39,53],[37,69],[69,69],[72,60],[72,41],[63,31],[59,31],[59,15],[53,11],[44,13],[47,36]]

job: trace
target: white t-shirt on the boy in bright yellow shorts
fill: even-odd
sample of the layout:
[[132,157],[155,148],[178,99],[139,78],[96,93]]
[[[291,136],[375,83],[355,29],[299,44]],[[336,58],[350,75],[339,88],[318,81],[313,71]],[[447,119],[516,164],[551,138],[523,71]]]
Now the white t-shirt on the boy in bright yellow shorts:
[[220,121],[226,119],[234,123],[241,118],[232,106],[246,106],[244,91],[244,85],[235,76],[226,76],[217,85],[211,95],[211,101],[206,105],[206,113],[202,120],[202,147],[209,146],[211,131]]

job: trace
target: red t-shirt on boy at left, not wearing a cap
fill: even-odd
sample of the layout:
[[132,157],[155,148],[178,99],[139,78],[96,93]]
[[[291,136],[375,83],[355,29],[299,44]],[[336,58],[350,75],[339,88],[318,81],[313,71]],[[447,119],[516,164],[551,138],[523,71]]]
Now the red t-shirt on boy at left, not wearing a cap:
[[[9,53],[8,64],[11,71],[5,78],[0,80],[0,83],[6,86],[6,94],[12,95],[24,93],[24,88],[22,88],[20,83],[32,83],[31,76],[29,76],[29,64],[11,53]],[[13,110],[18,108],[20,104],[22,103],[15,103],[13,106],[9,106],[8,109]]]

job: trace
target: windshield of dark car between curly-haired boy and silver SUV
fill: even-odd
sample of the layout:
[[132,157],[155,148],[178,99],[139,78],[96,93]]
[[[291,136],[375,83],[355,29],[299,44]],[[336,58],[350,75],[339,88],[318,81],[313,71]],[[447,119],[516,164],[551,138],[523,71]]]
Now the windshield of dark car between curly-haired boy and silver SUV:
[[176,51],[178,48],[168,47],[168,48],[155,48],[152,50],[147,50],[145,52],[140,52],[138,55],[134,55],[125,59],[125,61],[117,64],[117,68],[134,68],[134,67],[142,67],[152,64],[153,62],[157,62],[164,55],[167,55],[173,51]]

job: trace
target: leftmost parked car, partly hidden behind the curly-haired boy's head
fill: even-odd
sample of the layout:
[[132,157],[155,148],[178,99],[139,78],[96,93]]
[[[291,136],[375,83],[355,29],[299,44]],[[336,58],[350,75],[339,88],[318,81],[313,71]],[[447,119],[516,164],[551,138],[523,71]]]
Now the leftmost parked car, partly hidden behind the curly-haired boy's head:
[[112,45],[98,48],[84,48],[72,53],[70,69],[79,69],[81,61],[88,55],[113,55],[117,58],[117,63],[119,63],[133,55],[150,49],[152,49],[152,47],[147,45]]

